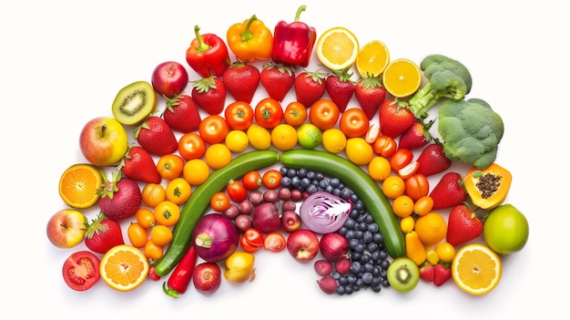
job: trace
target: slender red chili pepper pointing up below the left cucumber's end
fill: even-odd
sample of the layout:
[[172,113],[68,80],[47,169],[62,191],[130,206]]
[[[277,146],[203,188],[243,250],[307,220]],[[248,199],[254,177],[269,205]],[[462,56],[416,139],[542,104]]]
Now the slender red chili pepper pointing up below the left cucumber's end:
[[184,294],[186,289],[188,289],[188,284],[192,281],[192,274],[194,273],[197,260],[198,254],[192,245],[188,249],[188,252],[184,254],[184,257],[182,257],[172,274],[170,274],[168,282],[162,285],[162,291],[173,298],[178,298],[180,294]]

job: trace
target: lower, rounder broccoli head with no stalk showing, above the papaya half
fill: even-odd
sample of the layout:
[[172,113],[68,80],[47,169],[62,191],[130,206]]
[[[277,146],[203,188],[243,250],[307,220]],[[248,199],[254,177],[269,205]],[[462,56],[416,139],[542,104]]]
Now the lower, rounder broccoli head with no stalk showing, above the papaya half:
[[503,139],[503,119],[480,98],[445,100],[438,110],[438,131],[450,160],[463,160],[479,169],[490,166]]

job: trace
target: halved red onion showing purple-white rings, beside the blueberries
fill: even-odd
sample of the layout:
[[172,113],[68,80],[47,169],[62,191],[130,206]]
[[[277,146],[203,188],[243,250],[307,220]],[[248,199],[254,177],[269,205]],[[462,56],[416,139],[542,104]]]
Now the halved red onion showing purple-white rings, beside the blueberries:
[[317,191],[300,205],[300,220],[313,232],[337,232],[348,219],[351,209],[350,201],[326,191]]

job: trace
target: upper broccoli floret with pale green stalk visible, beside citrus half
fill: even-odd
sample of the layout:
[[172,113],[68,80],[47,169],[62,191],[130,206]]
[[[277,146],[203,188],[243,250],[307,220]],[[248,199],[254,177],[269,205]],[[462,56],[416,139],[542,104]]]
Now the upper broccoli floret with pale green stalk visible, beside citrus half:
[[462,100],[471,91],[471,74],[459,61],[432,55],[422,60],[420,68],[427,82],[408,100],[417,119],[425,119],[428,110],[443,98]]

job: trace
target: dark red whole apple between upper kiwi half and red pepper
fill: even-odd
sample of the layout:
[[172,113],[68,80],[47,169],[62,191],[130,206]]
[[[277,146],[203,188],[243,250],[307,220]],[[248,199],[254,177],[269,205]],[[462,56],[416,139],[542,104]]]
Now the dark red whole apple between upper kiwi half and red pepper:
[[188,71],[176,61],[167,61],[155,67],[152,87],[161,96],[174,98],[188,86]]

